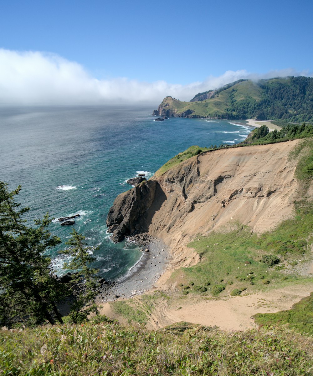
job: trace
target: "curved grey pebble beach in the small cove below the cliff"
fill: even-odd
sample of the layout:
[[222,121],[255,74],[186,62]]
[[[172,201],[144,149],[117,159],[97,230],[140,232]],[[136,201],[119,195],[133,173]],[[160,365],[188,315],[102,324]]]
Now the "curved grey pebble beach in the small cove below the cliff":
[[[127,240],[143,247],[141,258],[124,276],[114,282],[107,281],[101,286],[97,303],[141,295],[153,288],[166,270],[171,256],[168,246],[162,240],[148,233],[136,234]],[[145,252],[145,249],[148,249],[148,252]]]

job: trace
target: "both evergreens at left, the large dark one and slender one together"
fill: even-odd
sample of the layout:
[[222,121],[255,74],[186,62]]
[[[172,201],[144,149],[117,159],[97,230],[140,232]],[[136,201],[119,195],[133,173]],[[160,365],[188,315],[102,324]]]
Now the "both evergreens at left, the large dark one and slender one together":
[[27,225],[23,215],[30,208],[20,208],[15,201],[20,190],[18,186],[9,191],[8,184],[0,181],[0,325],[63,323],[58,305],[69,295],[74,296],[69,313],[72,322],[86,320],[91,312],[98,314],[98,270],[90,267],[95,257],[88,252],[92,247],[87,247],[83,235],[72,230],[65,243],[69,247],[60,253],[70,256],[64,268],[75,273],[69,284],[61,283],[53,275],[51,259],[46,255],[61,243],[49,231],[52,218],[47,213],[34,220],[34,226]]

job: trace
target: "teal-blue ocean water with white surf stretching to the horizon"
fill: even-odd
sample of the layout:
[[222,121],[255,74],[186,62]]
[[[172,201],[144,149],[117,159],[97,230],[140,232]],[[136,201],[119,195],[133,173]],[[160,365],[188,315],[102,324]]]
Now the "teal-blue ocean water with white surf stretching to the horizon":
[[[151,106],[0,107],[0,180],[22,185],[18,202],[27,219],[46,212],[59,218],[80,214],[75,229],[98,246],[95,267],[114,280],[140,258],[131,243],[114,244],[105,220],[125,181],[138,173],[151,177],[168,159],[191,145],[242,141],[252,128],[225,120],[170,118],[154,121]],[[55,270],[66,261],[70,227],[55,221],[51,232],[63,244],[50,252]]]

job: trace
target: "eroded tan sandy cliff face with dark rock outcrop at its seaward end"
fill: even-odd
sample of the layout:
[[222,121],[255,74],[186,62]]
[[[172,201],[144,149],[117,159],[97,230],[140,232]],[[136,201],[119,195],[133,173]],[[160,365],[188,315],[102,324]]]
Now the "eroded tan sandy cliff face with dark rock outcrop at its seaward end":
[[113,240],[147,231],[179,247],[238,222],[256,232],[274,227],[296,199],[296,162],[287,161],[296,143],[214,150],[154,176],[116,198],[107,218]]

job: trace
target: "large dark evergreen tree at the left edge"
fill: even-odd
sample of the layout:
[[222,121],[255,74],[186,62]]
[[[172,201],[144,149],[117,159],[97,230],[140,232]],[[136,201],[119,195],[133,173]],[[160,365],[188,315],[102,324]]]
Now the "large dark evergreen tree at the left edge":
[[20,209],[8,184],[0,181],[0,322],[10,324],[17,317],[51,324],[62,318],[56,303],[64,296],[62,286],[50,273],[50,258],[44,253],[61,243],[50,234],[47,227],[51,219],[46,214],[35,220],[36,227],[25,224],[23,214],[29,208]]

